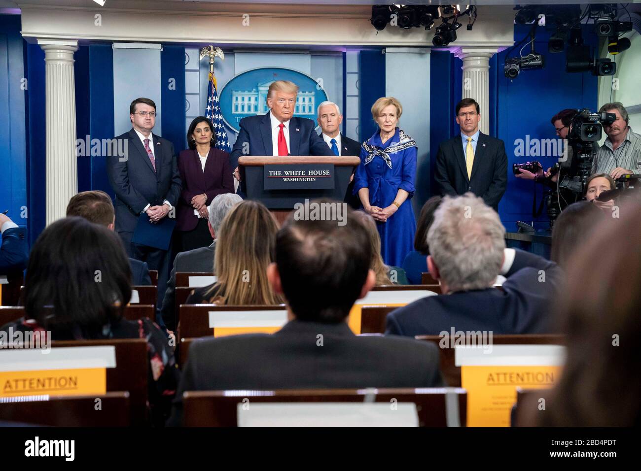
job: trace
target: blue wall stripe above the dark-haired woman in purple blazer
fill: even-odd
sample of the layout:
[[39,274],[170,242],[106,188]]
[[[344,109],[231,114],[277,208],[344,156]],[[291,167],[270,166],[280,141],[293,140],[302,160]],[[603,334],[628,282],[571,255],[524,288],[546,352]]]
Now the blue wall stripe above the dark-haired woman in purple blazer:
[[176,155],[185,148],[185,47],[163,44],[160,53],[162,136],[174,144]]

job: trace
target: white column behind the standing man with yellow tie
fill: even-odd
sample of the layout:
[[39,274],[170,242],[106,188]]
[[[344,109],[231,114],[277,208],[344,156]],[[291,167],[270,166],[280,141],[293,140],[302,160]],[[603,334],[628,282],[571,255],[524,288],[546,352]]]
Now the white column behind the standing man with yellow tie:
[[463,98],[475,99],[481,110],[481,133],[490,131],[490,58],[496,47],[461,47],[455,52],[463,60]]

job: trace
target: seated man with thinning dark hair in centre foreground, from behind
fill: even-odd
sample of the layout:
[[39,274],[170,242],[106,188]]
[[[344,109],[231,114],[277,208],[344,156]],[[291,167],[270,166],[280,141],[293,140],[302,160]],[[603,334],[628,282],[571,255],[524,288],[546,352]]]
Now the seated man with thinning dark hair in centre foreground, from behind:
[[353,210],[344,226],[290,216],[267,269],[272,288],[287,300],[289,322],[272,335],[192,343],[170,423],[181,422],[185,391],[441,386],[436,345],[358,337],[347,326],[354,301],[376,283],[368,241]]

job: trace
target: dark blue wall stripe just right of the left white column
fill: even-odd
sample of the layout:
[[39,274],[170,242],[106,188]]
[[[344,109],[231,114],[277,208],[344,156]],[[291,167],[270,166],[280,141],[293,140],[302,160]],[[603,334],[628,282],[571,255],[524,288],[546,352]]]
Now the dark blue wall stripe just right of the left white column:
[[[110,44],[92,44],[89,49],[89,103],[90,132],[92,139],[110,139],[113,131],[113,49]],[[81,136],[78,131],[78,136]],[[107,179],[106,159],[94,156],[91,162],[91,188],[103,190],[113,198]],[[79,186],[78,181],[78,186]]]

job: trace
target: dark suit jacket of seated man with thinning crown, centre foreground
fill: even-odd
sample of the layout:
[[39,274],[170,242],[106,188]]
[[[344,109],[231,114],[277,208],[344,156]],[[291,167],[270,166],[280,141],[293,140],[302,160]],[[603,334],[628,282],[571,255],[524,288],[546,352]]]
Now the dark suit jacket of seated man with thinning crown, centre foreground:
[[394,336],[358,337],[345,322],[292,320],[272,335],[203,338],[192,343],[169,424],[181,424],[185,391],[442,385],[438,347],[433,343]]

